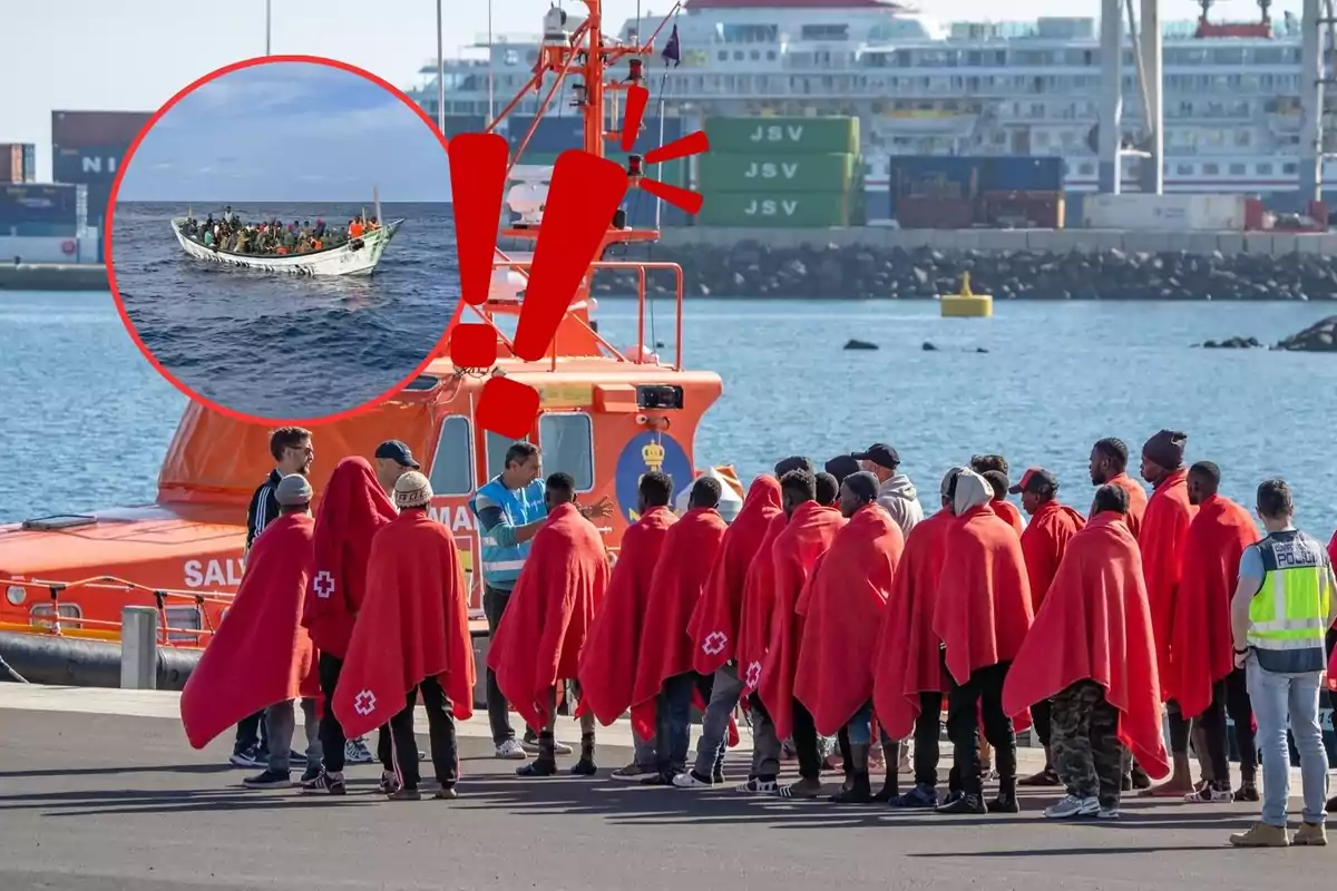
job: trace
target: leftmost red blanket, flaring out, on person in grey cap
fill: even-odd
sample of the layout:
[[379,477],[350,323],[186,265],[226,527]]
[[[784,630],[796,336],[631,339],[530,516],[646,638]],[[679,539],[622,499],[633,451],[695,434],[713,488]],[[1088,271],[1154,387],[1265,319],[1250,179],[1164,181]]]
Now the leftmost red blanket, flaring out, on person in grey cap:
[[180,723],[194,748],[247,715],[318,696],[316,655],[302,628],[316,521],[293,513],[255,538],[227,617],[180,693]]

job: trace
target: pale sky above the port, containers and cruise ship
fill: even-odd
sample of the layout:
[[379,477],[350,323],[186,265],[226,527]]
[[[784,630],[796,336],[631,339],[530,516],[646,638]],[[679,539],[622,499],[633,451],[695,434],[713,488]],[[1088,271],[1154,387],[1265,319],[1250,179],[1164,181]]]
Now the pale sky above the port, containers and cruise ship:
[[[575,12],[584,7],[563,0]],[[398,87],[417,79],[436,57],[435,0],[271,0],[271,51],[332,56],[365,68]],[[919,0],[929,15],[947,19],[999,19],[993,0]],[[536,33],[548,0],[441,0],[441,39],[447,56],[488,32]],[[667,13],[671,0],[606,0],[606,31],[615,32],[638,8]],[[1162,0],[1166,19],[1194,19],[1191,0]],[[210,8],[180,0],[60,0],[5,4],[5,41],[0,52],[0,143],[37,144],[40,179],[51,176],[51,110],[152,111],[197,77],[241,59],[265,55],[265,0],[229,0]],[[1038,15],[1096,16],[1094,0],[1009,0],[1008,20]],[[1298,0],[1273,7],[1273,16],[1300,13]],[[1221,0],[1214,17],[1257,16],[1251,0]],[[435,64],[435,63],[433,63]]]

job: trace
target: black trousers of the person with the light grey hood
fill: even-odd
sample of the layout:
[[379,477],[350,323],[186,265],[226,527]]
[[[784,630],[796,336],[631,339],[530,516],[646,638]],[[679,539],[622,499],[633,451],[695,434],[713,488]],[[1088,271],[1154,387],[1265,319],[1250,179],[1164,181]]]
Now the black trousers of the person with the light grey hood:
[[995,751],[995,767],[1003,791],[1016,783],[1016,732],[1012,719],[1003,711],[1003,683],[1011,663],[988,665],[971,675],[964,684],[952,679],[948,693],[947,735],[952,740],[953,760],[965,793],[980,795],[980,715],[984,717],[984,739]]

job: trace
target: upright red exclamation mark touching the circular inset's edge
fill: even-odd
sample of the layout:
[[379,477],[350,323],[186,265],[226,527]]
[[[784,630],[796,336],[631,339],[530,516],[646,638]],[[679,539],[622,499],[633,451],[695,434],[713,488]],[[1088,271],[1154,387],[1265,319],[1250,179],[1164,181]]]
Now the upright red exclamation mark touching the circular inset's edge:
[[[487,301],[492,279],[509,147],[497,134],[461,134],[451,140],[447,152],[460,290],[465,303],[477,306]],[[492,367],[497,361],[496,331],[476,322],[456,325],[451,331],[451,361],[456,367]]]

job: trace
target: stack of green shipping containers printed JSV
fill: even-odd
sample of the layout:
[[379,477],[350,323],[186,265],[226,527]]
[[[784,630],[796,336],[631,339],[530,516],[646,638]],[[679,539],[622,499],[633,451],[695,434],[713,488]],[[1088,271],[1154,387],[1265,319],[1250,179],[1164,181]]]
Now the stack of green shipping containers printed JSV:
[[699,226],[862,222],[857,118],[707,118],[697,160]]

